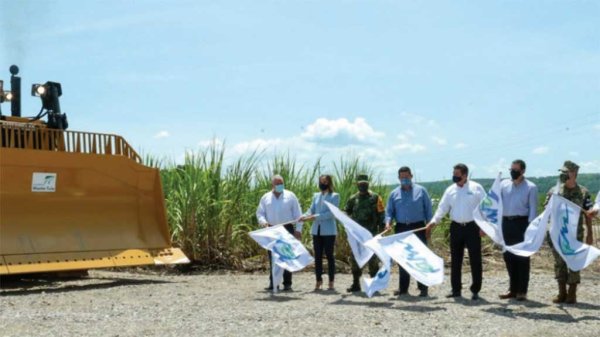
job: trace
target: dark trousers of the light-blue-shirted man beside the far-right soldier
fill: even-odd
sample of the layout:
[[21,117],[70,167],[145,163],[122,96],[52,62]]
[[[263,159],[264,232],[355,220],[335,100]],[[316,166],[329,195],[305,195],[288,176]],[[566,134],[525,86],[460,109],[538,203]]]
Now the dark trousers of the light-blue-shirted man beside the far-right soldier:
[[[502,219],[502,235],[507,246],[523,242],[525,231],[529,226],[529,220],[523,217],[504,217]],[[515,255],[510,252],[504,252],[504,262],[508,270],[510,280],[509,291],[513,294],[527,294],[529,287],[529,271],[531,269],[531,259]]]

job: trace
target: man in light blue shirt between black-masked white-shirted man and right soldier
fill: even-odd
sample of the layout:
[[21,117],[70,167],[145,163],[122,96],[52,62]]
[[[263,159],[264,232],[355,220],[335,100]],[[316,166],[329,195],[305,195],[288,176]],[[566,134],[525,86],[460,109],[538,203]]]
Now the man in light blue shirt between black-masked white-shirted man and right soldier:
[[[510,167],[511,179],[501,184],[502,196],[502,236],[508,246],[525,239],[529,223],[537,216],[538,188],[525,179],[525,162],[517,159]],[[531,261],[529,257],[504,252],[504,262],[508,271],[509,289],[500,299],[527,299]]]

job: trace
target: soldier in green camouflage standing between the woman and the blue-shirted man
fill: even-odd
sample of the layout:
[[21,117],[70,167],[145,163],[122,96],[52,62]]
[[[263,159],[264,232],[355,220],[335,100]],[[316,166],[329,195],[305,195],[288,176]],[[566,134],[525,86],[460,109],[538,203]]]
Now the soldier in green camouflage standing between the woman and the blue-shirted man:
[[[369,176],[359,174],[356,178],[358,192],[355,193],[346,202],[346,214],[354,221],[369,230],[373,235],[377,235],[383,227],[384,207],[381,197],[369,190]],[[352,285],[347,289],[348,292],[360,291],[360,276],[362,269],[356,263],[354,256],[350,256],[352,265]],[[376,256],[373,256],[368,262],[369,275],[374,277],[379,269],[379,263]]]

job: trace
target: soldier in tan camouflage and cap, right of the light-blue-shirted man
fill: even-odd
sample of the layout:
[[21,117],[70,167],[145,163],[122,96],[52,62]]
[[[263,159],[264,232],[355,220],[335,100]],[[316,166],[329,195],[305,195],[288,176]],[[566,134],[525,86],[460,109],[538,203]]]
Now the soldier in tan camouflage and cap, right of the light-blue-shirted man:
[[[592,205],[591,196],[587,188],[577,184],[577,172],[579,171],[579,166],[572,161],[567,160],[559,171],[561,184],[558,187],[558,195],[572,201],[576,205],[579,205],[583,210],[588,210]],[[550,201],[550,197],[554,193],[555,188],[556,187],[553,187],[550,189],[550,191],[548,191],[544,206],[546,206]],[[592,223],[590,219],[584,215],[584,212],[581,212],[579,216],[577,240],[583,241],[584,219],[586,220],[588,234],[586,242],[588,244],[592,244]],[[567,268],[565,261],[554,249],[550,236],[548,236],[548,243],[552,249],[552,255],[554,255],[554,274],[556,280],[558,281],[558,296],[556,296],[552,302],[569,304],[577,303],[577,284],[579,284],[581,281],[579,272],[574,272]],[[568,290],[567,285],[569,285]]]

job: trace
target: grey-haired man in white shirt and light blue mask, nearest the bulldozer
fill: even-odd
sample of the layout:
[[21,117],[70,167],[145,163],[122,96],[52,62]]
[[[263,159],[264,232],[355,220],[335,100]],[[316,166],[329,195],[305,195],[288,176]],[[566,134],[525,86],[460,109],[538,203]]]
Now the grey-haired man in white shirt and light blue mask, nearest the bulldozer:
[[[274,175],[271,178],[271,187],[271,191],[260,198],[256,210],[258,224],[263,227],[285,224],[285,229],[300,240],[302,222],[299,222],[298,219],[302,216],[302,212],[300,211],[298,198],[293,192],[285,189],[283,177],[280,175]],[[296,225],[295,231],[294,224]],[[269,263],[271,263],[271,252],[269,252]],[[279,285],[275,286],[278,287]],[[271,272],[269,273],[269,287],[265,290],[273,290],[273,275]],[[292,290],[292,273],[287,270],[283,272],[283,290]]]

